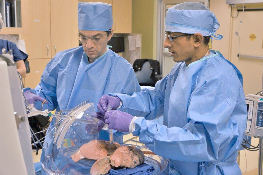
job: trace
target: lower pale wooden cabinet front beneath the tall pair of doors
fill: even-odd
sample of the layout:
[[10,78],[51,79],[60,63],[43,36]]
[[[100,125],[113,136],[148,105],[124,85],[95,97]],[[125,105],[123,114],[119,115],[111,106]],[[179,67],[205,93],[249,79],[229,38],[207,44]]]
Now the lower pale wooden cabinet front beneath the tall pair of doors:
[[35,88],[40,83],[41,75],[51,59],[29,59],[30,72],[24,78],[24,86]]

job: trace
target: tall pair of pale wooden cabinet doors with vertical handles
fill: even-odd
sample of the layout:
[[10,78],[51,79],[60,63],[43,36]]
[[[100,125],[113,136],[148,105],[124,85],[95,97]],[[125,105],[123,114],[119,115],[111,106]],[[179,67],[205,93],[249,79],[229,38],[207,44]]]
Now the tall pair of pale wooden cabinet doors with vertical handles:
[[79,46],[78,0],[29,0],[28,59],[53,58],[59,51]]

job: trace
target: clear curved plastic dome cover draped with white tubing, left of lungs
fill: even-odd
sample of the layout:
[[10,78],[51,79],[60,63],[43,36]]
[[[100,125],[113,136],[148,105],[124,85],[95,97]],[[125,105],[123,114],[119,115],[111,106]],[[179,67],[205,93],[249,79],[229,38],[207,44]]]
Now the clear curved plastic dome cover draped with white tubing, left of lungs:
[[[84,158],[73,161],[72,155],[92,140],[99,140],[98,131],[90,134],[85,128],[98,130],[93,103],[63,110],[56,119],[53,152],[42,164],[42,174],[89,174],[96,160]],[[90,150],[92,152],[92,150]]]

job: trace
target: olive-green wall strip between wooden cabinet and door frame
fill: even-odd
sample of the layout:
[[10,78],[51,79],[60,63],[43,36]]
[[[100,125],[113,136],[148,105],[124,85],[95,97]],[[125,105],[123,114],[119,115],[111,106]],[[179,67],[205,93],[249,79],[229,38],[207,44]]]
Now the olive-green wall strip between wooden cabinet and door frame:
[[132,0],[132,33],[141,33],[141,58],[153,58],[154,3]]

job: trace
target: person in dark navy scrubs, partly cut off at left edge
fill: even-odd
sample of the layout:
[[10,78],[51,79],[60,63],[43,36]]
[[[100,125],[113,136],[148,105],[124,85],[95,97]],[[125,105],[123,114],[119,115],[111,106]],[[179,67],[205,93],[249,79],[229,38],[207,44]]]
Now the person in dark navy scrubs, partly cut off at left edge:
[[[2,14],[0,13],[0,31],[4,27],[4,21],[2,20]],[[26,66],[24,64],[24,61],[28,58],[28,55],[21,50],[18,49],[18,47],[15,45],[15,43],[8,41],[8,40],[2,40],[0,39],[0,53],[2,54],[2,49],[5,48],[6,52],[9,50],[12,50],[12,54],[14,56],[14,61],[17,67],[17,71],[21,74],[22,78],[26,76]]]

